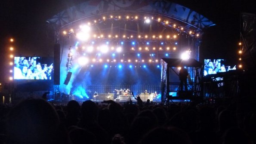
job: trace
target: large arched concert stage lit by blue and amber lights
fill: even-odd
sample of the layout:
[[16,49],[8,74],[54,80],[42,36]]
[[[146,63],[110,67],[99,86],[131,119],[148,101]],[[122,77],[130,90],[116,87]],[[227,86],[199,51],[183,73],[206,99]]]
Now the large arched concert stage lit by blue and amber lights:
[[[100,1],[106,4],[104,0]],[[161,59],[180,59],[180,55],[185,55],[182,58],[198,60],[200,34],[204,28],[213,25],[205,17],[204,21],[195,21],[194,18],[201,18],[200,14],[171,2],[157,2],[163,5],[156,6],[156,3],[136,0],[129,2],[136,5],[131,6],[116,1],[115,5],[122,6],[116,9],[106,5],[104,10],[99,9],[101,4],[96,6],[92,3],[94,1],[89,0],[72,8],[76,17],[69,15],[70,9],[57,14],[68,18],[64,23],[61,16],[48,19],[47,28],[54,31],[52,34],[56,38],[52,46],[52,79],[15,80],[11,88],[15,95],[12,98],[41,96],[42,92],[48,91],[54,95],[49,100],[59,102],[72,99],[101,102],[109,93],[113,93],[113,100],[116,101],[135,101],[129,94],[115,95],[115,89],[125,88],[135,96],[139,95],[142,101],[154,101],[152,94],[157,92],[162,95],[163,92]],[[167,12],[166,4],[172,5],[172,10]],[[78,7],[81,9],[76,9]],[[82,9],[83,12],[80,12]],[[193,15],[188,15],[188,11]],[[189,71],[191,80],[194,79],[193,71]],[[144,94],[145,90],[148,94]],[[94,92],[99,94],[95,99]],[[161,96],[156,101],[161,101]]]

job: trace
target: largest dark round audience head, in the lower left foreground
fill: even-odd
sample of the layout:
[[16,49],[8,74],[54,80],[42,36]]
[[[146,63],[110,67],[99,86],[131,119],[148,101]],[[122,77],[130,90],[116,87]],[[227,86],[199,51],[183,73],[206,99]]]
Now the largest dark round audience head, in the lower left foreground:
[[43,99],[26,99],[10,110],[7,120],[9,144],[51,144],[56,141],[59,117]]

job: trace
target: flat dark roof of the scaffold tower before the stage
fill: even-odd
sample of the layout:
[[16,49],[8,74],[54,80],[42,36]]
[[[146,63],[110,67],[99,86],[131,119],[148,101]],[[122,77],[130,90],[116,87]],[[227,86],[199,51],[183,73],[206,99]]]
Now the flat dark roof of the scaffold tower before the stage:
[[161,60],[167,63],[168,67],[201,67],[202,63],[195,60],[194,58],[189,58],[187,60],[181,58],[161,58]]

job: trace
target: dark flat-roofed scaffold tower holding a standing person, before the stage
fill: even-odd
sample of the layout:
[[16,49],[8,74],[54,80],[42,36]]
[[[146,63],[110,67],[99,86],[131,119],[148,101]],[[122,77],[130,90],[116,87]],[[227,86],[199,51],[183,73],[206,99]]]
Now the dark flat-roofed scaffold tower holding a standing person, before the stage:
[[[188,91],[180,91],[179,67],[188,69]],[[202,64],[193,59],[161,58],[161,92],[162,103],[173,99],[200,100]]]

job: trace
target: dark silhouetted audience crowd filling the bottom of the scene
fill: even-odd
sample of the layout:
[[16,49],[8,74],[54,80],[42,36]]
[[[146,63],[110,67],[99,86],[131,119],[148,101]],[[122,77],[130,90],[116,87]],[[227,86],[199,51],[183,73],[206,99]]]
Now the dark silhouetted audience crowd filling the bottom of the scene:
[[[139,99],[137,98],[139,101]],[[253,144],[256,116],[237,101],[221,103],[52,104],[28,98],[2,104],[1,144]]]

